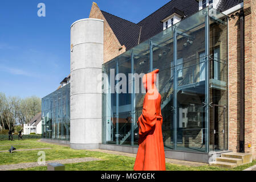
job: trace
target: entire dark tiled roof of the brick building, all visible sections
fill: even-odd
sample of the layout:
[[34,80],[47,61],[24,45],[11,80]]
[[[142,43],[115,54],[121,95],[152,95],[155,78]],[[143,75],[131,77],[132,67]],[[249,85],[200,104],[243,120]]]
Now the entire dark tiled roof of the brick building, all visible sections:
[[[225,11],[241,2],[243,0],[221,0],[218,3],[217,9],[219,11]],[[121,46],[125,45],[127,50],[129,50],[136,46],[138,42],[144,42],[161,32],[163,27],[161,20],[164,20],[173,13],[177,13],[183,17],[190,16],[196,13],[198,9],[198,0],[171,0],[137,24],[102,10],[101,13],[112,28]]]

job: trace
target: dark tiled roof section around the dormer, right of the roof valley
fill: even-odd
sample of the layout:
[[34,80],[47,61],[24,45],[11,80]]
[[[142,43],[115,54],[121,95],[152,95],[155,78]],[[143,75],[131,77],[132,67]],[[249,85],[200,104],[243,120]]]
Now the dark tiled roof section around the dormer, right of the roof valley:
[[142,26],[140,42],[143,42],[162,31],[161,20],[170,16],[170,10],[177,8],[184,12],[185,16],[192,15],[198,11],[198,2],[191,0],[172,0],[138,24]]

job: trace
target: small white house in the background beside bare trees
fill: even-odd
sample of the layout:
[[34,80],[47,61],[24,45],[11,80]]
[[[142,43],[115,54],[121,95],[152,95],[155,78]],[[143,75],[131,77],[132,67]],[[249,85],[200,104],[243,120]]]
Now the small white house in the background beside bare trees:
[[42,116],[38,113],[31,119],[31,121],[23,126],[23,134],[30,133],[42,134]]

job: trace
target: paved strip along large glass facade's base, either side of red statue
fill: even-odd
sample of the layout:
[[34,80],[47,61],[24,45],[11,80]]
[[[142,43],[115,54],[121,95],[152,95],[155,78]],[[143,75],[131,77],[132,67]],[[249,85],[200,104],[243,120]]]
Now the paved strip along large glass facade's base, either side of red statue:
[[[102,149],[94,149],[90,151],[104,152],[107,154],[115,154],[115,155],[124,155],[132,158],[136,158],[136,154],[130,154],[126,152],[118,152],[118,151],[110,151],[110,150],[102,150]],[[186,160],[177,160],[177,159],[168,159],[168,158],[165,158],[165,162],[169,164],[175,164],[178,166],[188,166],[188,167],[198,167],[198,166],[207,165],[206,163],[190,162]]]

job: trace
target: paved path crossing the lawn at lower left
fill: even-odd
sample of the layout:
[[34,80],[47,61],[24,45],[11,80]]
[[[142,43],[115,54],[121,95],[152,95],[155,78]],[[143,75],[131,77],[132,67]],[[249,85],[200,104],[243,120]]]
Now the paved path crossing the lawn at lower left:
[[97,158],[74,158],[74,159],[62,159],[62,160],[48,160],[46,162],[46,165],[39,165],[37,162],[0,165],[0,171],[8,171],[8,170],[15,170],[15,169],[26,169],[26,168],[38,167],[38,166],[47,166],[48,163],[72,164],[72,163],[90,162],[90,161],[94,161],[94,160],[101,160],[101,159],[97,159]]

